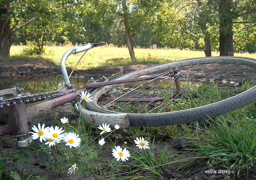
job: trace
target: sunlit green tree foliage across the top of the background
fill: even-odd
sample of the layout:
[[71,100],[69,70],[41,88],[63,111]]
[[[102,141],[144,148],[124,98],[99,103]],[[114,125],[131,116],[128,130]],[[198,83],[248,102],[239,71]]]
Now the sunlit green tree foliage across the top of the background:
[[[129,33],[135,47],[203,49],[204,36],[210,37],[212,50],[219,49],[218,2],[190,1],[127,1],[127,14],[122,12],[121,0],[110,1],[29,1],[11,4],[10,16],[13,43],[34,41],[39,52],[47,42],[81,44],[106,41],[126,45],[123,17],[129,19]],[[225,6],[225,0],[220,0]],[[234,49],[255,52],[255,6],[249,0],[232,3],[231,19]],[[200,5],[199,5],[200,4]],[[236,23],[239,22],[239,23]],[[242,23],[240,23],[242,22]],[[38,53],[38,51],[36,51]]]

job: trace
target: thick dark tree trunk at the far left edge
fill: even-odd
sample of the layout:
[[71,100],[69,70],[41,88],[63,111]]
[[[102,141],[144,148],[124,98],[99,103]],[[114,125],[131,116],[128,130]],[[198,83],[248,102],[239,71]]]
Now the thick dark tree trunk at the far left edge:
[[[0,57],[10,57],[11,47],[11,27],[10,27],[10,12],[8,0],[2,2],[0,6]],[[3,19],[6,17],[8,19]]]

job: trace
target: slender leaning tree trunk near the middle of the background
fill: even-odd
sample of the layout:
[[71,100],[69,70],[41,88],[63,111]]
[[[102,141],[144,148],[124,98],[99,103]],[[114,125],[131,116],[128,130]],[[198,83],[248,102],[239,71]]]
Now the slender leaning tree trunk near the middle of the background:
[[126,38],[126,45],[129,49],[129,53],[132,59],[132,62],[135,60],[135,53],[134,53],[134,47],[131,43],[131,37],[129,34],[129,25],[128,25],[128,18],[126,16],[126,0],[123,0],[123,13],[124,13],[124,27],[125,27],[125,38]]

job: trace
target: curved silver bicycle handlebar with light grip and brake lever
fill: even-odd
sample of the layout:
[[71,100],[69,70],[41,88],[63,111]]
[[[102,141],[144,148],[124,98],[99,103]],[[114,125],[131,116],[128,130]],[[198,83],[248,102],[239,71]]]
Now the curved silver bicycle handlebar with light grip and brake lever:
[[70,54],[78,54],[78,53],[83,52],[83,51],[88,51],[91,48],[99,47],[99,46],[105,46],[105,45],[107,45],[107,43],[82,44],[82,45],[79,45],[77,47],[73,47],[73,48],[69,49],[63,55],[63,57],[61,59],[61,72],[62,72],[62,75],[63,75],[63,78],[64,78],[65,85],[66,85],[67,89],[72,88],[71,84],[70,84],[70,81],[69,81],[67,69],[66,69],[66,61],[67,61],[67,58],[69,57],[69,55]]

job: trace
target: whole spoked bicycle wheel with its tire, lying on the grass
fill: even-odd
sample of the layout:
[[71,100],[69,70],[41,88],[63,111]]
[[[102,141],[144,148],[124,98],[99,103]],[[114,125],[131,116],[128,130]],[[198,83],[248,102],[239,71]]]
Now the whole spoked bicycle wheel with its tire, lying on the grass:
[[95,112],[128,113],[131,126],[200,121],[254,102],[255,70],[255,59],[230,56],[158,64],[115,80],[169,73],[152,80],[97,88],[91,93],[93,102],[85,106]]

